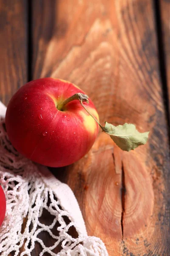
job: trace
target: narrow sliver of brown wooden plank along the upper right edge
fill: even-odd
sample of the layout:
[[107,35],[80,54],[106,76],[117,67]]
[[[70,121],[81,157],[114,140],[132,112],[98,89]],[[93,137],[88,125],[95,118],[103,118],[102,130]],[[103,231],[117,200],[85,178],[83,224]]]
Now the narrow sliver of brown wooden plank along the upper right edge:
[[[166,64],[166,73],[167,76],[167,90],[169,99],[169,111],[170,111],[170,1],[162,0],[160,2],[160,17],[161,17],[161,28],[162,28],[162,37],[161,40],[164,43],[164,59]],[[170,113],[170,112],[169,112]]]

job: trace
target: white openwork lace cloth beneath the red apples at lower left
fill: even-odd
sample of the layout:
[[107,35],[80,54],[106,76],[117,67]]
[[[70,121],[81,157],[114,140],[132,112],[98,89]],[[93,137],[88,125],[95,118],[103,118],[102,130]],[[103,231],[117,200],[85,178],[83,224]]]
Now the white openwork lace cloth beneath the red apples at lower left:
[[[0,102],[0,115],[4,117],[5,111]],[[14,256],[31,256],[37,243],[42,248],[40,256],[45,252],[52,256],[108,256],[103,242],[87,235],[72,190],[45,166],[31,162],[12,147],[2,118],[0,184],[7,203],[0,227],[1,256],[11,252]],[[51,237],[50,246],[42,239],[42,233]]]

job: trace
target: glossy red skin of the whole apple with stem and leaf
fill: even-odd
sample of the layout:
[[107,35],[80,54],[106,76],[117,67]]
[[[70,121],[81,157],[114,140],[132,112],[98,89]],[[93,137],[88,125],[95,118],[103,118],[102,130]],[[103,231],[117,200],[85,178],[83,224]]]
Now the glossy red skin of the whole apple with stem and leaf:
[[[6,111],[6,130],[14,148],[45,166],[67,166],[83,157],[99,131],[96,121],[80,105],[69,102],[63,111],[59,102],[84,93],[71,82],[43,78],[23,85],[11,98]],[[89,99],[84,105],[99,120]]]

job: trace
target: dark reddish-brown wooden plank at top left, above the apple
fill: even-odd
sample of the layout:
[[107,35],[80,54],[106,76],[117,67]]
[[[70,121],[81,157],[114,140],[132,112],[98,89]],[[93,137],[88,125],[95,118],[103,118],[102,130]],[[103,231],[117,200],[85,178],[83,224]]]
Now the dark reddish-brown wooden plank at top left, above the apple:
[[27,81],[26,0],[0,0],[0,100]]

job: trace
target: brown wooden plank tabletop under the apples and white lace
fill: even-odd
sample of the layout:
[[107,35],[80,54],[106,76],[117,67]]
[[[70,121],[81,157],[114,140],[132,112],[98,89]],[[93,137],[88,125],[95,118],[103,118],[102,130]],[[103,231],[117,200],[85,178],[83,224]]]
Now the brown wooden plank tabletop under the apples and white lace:
[[170,2],[0,0],[0,99],[49,76],[85,90],[102,124],[150,130],[130,153],[100,132],[85,157],[51,169],[74,191],[88,234],[110,256],[169,256]]

